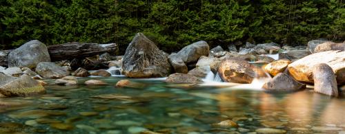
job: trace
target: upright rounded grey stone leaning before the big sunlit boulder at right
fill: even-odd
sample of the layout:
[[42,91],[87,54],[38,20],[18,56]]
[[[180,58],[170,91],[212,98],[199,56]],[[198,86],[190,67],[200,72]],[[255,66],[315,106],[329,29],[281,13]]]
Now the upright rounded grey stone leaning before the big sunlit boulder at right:
[[339,96],[337,80],[333,70],[325,63],[313,67],[314,91],[324,93],[328,96]]

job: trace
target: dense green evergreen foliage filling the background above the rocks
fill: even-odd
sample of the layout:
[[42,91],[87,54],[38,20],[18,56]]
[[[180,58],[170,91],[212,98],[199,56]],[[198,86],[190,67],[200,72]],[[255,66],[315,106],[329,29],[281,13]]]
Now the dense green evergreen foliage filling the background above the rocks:
[[3,0],[0,49],[38,39],[119,43],[144,32],[173,52],[195,41],[301,45],[315,38],[345,40],[342,0]]

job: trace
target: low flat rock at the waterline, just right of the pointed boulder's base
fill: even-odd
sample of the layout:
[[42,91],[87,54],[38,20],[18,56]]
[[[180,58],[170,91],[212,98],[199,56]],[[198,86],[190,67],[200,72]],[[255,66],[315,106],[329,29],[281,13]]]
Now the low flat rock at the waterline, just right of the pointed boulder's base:
[[166,78],[166,82],[172,82],[172,83],[202,83],[203,81],[201,78],[197,76],[193,76],[191,74],[170,74],[168,78]]

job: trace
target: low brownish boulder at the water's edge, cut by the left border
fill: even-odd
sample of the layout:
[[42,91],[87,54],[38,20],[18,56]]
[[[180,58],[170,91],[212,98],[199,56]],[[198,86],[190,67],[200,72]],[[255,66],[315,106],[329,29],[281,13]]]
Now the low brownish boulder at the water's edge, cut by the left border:
[[0,93],[4,96],[31,96],[45,91],[46,89],[30,76],[14,78],[0,73]]

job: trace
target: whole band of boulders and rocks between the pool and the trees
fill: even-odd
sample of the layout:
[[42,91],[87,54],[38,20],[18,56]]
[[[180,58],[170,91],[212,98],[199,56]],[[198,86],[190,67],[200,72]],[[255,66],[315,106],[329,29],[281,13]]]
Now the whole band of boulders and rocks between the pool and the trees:
[[[75,47],[75,44],[93,49]],[[61,46],[73,46],[69,48],[77,51],[66,52],[68,47],[58,51],[59,46],[52,49],[37,40],[6,50],[9,53],[4,60],[8,68],[0,66],[0,96],[45,93],[47,83],[43,79],[57,79],[55,85],[71,86],[78,85],[77,77],[109,77],[112,74],[122,74],[126,78],[167,77],[166,82],[192,84],[204,82],[202,79],[210,72],[219,75],[223,82],[240,84],[273,77],[264,83],[265,91],[300,91],[308,84],[314,85],[315,92],[328,96],[340,96],[345,84],[345,44],[331,41],[313,40],[307,46],[297,47],[246,43],[230,45],[228,51],[220,46],[210,49],[208,43],[198,41],[179,52],[167,54],[144,34],[138,33],[124,56],[116,56],[118,48],[109,47],[114,44],[66,43]],[[107,49],[98,51],[100,47]],[[55,56],[50,55],[52,52]],[[107,70],[110,67],[115,69]],[[84,84],[108,85],[100,80],[88,80]],[[126,86],[136,87],[140,83],[120,80],[116,84],[116,87]]]

